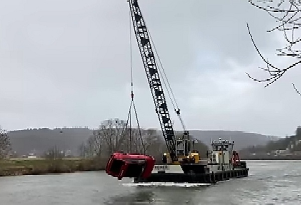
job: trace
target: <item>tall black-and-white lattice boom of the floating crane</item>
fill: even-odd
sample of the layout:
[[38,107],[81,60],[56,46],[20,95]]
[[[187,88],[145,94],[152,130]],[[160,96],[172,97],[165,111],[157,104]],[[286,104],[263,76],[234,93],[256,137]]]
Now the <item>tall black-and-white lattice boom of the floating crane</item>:
[[156,62],[155,54],[150,41],[150,35],[147,31],[137,0],[127,0],[127,2],[129,3],[134,33],[144,65],[149,88],[152,92],[163,137],[166,141],[171,159],[173,161],[176,161],[177,145],[175,139],[175,131],[168,111],[166,98],[158,72],[158,64]]

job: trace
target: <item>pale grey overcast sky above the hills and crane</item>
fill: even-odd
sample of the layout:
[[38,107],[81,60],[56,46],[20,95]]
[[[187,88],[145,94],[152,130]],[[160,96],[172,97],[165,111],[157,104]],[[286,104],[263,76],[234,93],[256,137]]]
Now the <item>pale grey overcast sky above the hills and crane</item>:
[[[247,33],[269,61],[282,34],[242,0],[140,0],[188,129],[293,134],[301,124],[301,70],[264,88]],[[0,1],[0,124],[27,127],[97,127],[126,119],[130,103],[129,9],[126,0]],[[135,104],[143,127],[159,127],[135,41]],[[171,104],[169,109],[173,112]],[[173,114],[175,129],[181,130]]]

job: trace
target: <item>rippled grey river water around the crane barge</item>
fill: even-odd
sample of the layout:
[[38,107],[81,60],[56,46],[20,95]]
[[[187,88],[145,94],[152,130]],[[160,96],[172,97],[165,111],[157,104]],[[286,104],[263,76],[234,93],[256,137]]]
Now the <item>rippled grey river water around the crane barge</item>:
[[247,161],[249,177],[209,187],[127,187],[104,172],[0,178],[0,204],[301,204],[301,160]]

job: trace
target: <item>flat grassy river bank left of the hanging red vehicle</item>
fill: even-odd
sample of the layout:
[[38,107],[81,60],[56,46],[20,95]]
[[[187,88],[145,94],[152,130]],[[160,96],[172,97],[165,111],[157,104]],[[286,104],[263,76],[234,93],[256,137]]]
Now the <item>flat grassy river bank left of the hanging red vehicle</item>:
[[105,163],[96,158],[6,159],[0,161],[0,176],[99,171],[105,169]]

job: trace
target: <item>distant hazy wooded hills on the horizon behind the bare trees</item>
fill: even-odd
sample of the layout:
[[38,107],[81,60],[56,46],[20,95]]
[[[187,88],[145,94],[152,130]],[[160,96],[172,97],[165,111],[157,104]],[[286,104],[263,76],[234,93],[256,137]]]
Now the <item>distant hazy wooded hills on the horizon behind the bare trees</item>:
[[[18,154],[28,154],[35,151],[45,153],[57,146],[62,150],[71,150],[72,154],[79,154],[79,146],[91,136],[93,130],[89,128],[58,128],[58,129],[30,129],[9,132],[13,149]],[[200,131],[190,133],[210,146],[210,140],[223,139],[235,141],[235,149],[239,150],[252,145],[265,144],[268,137],[261,134],[237,131]]]

